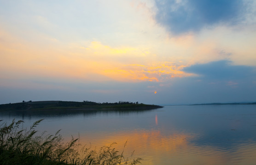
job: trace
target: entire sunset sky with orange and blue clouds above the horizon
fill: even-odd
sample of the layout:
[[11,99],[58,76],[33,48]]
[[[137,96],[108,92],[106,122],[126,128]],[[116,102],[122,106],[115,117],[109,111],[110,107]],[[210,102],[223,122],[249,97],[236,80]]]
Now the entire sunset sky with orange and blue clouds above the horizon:
[[255,0],[0,0],[0,104],[256,101]]

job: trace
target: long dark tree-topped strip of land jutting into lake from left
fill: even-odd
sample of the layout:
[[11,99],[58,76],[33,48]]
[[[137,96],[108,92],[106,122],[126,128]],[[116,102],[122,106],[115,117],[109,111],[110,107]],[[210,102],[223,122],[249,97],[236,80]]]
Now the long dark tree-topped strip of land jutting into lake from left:
[[0,111],[17,110],[149,110],[163,108],[159,105],[139,104],[138,102],[96,103],[92,101],[29,101],[0,104]]

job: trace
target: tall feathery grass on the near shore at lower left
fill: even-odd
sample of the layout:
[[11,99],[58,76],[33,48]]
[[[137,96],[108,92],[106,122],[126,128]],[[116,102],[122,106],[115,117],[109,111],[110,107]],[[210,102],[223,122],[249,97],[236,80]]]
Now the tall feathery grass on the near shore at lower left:
[[[59,131],[54,135],[35,130],[42,120],[35,121],[30,129],[20,128],[23,121],[6,122],[0,125],[0,164],[1,165],[136,165],[140,158],[133,159],[133,153],[125,158],[122,153],[110,146],[92,150],[83,146],[79,149],[78,138],[64,143]],[[126,144],[125,144],[126,145]],[[125,146],[124,146],[125,147]]]

